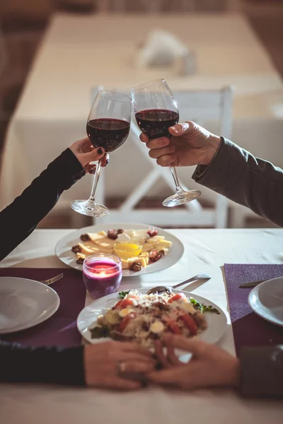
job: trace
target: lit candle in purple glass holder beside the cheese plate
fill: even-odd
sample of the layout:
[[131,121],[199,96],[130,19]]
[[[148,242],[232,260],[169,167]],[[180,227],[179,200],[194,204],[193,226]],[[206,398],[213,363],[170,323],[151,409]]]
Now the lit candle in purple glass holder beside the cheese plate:
[[83,261],[83,283],[93,298],[115,293],[122,280],[122,264],[112,254],[92,254]]

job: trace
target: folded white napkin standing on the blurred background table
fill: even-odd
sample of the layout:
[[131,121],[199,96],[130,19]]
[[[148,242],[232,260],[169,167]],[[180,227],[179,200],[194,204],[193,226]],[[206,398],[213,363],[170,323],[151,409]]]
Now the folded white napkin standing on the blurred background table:
[[137,55],[138,66],[172,66],[188,54],[187,46],[178,37],[163,30],[155,30],[146,37]]

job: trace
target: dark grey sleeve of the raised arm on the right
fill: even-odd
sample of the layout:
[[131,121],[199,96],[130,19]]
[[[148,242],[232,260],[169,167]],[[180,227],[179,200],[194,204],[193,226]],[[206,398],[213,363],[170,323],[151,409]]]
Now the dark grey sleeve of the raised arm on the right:
[[283,227],[283,170],[221,137],[209,165],[192,178]]

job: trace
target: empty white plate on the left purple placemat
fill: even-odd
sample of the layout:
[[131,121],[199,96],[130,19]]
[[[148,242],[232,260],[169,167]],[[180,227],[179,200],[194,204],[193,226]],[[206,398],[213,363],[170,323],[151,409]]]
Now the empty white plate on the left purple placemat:
[[0,334],[28,329],[50,318],[60,299],[48,285],[26,278],[0,277]]

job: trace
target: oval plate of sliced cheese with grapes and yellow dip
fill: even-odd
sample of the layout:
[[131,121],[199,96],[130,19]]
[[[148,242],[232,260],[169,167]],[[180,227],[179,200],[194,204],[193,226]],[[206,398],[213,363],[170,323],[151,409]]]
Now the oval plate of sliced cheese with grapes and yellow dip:
[[55,252],[64,264],[79,270],[91,254],[114,254],[121,259],[123,276],[140,276],[176,264],[183,257],[184,246],[177,237],[158,227],[107,223],[62,237]]

